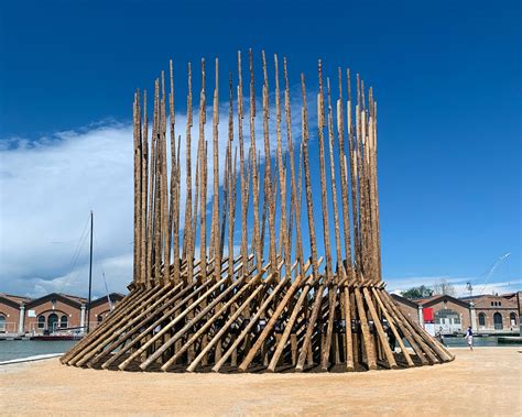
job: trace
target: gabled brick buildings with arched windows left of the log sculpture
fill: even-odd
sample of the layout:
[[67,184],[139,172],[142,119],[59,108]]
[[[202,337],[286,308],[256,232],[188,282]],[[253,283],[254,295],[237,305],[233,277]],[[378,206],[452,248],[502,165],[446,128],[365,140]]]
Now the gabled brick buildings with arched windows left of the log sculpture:
[[84,331],[87,320],[93,329],[122,298],[122,294],[111,293],[93,300],[90,317],[87,318],[88,303],[83,297],[51,293],[31,299],[0,294],[0,333],[43,334],[61,330]]

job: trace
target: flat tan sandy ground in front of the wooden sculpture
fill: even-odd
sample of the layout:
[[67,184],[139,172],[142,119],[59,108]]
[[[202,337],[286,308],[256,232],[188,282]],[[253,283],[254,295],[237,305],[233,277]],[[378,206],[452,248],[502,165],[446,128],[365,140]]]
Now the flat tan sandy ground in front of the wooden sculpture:
[[0,367],[1,415],[522,415],[522,349],[453,349],[444,365],[345,374],[163,374]]

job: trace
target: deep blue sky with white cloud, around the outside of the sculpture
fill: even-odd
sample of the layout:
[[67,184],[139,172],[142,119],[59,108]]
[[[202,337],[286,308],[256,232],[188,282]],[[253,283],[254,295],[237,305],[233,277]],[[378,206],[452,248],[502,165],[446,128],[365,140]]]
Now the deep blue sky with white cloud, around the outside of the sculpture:
[[293,84],[322,58],[374,87],[389,288],[439,277],[481,287],[507,252],[487,292],[522,287],[520,2],[173,4],[1,3],[0,292],[85,293],[86,256],[74,267],[70,256],[91,208],[100,268],[122,290],[133,90],[171,57],[184,69],[219,56],[226,74],[249,47],[287,56]]

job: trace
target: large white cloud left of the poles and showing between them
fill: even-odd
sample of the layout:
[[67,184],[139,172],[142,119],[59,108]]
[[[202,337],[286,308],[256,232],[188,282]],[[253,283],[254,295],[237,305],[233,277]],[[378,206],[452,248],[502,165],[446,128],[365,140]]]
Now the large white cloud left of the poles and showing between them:
[[[193,179],[198,140],[196,109],[195,113]],[[293,131],[300,132],[298,111],[294,110],[295,114]],[[184,116],[176,114],[176,135],[182,135],[182,184],[185,184],[185,121]],[[274,122],[273,117],[271,132]],[[208,198],[213,190],[211,127],[211,112],[207,111]],[[284,123],[282,128],[285,144]],[[220,175],[227,129],[228,108],[222,108]],[[250,144],[246,118],[246,151]],[[258,114],[255,131],[257,147],[263,155],[262,113]],[[295,133],[294,140],[298,141]],[[41,296],[56,290],[85,296],[88,239],[74,265],[72,256],[91,209],[95,212],[94,294],[105,294],[100,268],[106,273],[109,290],[126,290],[132,275],[132,127],[118,122],[93,124],[36,141],[23,138],[0,141],[0,292]],[[275,134],[271,134],[271,150],[275,151]],[[182,201],[185,191],[182,187]],[[182,202],[182,220],[183,208]]]

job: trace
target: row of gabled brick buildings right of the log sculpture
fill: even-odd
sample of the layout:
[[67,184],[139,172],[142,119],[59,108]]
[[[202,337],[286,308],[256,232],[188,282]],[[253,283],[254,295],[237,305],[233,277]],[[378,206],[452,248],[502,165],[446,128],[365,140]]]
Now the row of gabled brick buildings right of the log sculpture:
[[442,329],[444,334],[461,334],[468,326],[478,334],[520,333],[522,329],[522,292],[461,298],[437,295],[423,299],[406,299],[396,294],[392,294],[392,297],[404,314],[422,326],[425,325],[425,318],[429,317],[435,331]]

